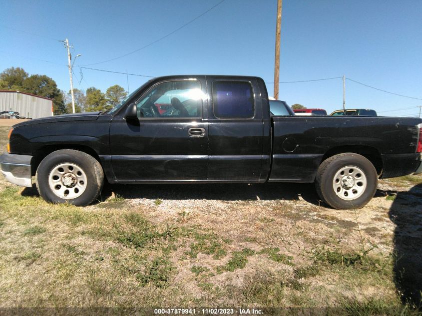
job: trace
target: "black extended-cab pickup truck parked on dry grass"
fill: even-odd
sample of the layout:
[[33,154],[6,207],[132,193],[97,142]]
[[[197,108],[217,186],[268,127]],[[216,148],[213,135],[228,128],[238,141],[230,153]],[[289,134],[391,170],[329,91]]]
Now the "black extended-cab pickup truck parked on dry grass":
[[108,112],[14,125],[6,179],[49,202],[88,205],[109,183],[315,182],[336,209],[361,208],[378,178],[422,172],[422,120],[270,115],[261,78],[154,78]]

